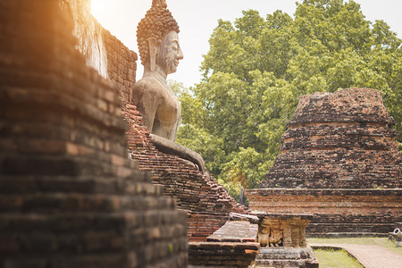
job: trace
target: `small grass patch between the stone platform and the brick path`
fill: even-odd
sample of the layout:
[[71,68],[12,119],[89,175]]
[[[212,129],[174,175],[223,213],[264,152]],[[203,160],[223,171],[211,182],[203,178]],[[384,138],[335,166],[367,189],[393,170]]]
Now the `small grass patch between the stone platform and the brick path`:
[[350,257],[345,250],[315,249],[314,255],[320,263],[320,268],[364,268],[355,258]]

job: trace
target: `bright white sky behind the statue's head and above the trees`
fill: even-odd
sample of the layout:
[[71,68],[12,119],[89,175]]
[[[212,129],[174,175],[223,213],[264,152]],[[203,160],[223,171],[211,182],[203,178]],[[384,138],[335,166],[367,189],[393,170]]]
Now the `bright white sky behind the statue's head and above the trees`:
[[[241,11],[254,9],[265,18],[266,14],[281,10],[289,15],[296,11],[297,0],[167,0],[168,9],[180,27],[180,46],[184,59],[178,71],[168,76],[185,87],[201,80],[199,66],[203,54],[209,50],[208,40],[217,21],[234,21]],[[299,3],[303,0],[298,0]],[[402,38],[401,0],[355,0],[369,21],[384,20],[390,29]],[[138,53],[136,30],[138,22],[151,7],[152,0],[92,0],[92,13],[96,19],[121,42]],[[142,77],[138,60],[137,80]]]

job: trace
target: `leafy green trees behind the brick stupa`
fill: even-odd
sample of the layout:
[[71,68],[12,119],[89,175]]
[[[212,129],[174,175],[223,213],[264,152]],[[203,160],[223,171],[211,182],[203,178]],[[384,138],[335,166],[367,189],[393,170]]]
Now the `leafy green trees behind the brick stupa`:
[[353,1],[305,0],[294,19],[244,11],[234,23],[218,21],[209,42],[204,79],[176,85],[178,142],[203,155],[228,188],[255,188],[264,178],[301,95],[379,89],[402,134],[401,40],[385,21],[365,20]]

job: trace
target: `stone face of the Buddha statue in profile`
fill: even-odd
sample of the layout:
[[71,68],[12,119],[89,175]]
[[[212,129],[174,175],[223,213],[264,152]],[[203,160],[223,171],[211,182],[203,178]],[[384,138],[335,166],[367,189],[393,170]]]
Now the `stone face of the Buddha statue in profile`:
[[156,64],[164,73],[169,74],[177,71],[179,61],[183,59],[183,53],[179,45],[177,32],[172,30],[164,38],[156,55]]

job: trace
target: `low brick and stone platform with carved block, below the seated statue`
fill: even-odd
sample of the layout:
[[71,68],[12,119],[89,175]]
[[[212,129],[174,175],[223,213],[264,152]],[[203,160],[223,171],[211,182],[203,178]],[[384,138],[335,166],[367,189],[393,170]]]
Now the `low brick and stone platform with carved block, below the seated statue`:
[[[308,214],[230,214],[207,242],[189,242],[193,267],[318,267],[306,245]],[[248,222],[249,221],[249,222]]]

